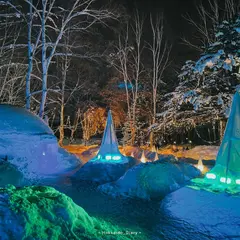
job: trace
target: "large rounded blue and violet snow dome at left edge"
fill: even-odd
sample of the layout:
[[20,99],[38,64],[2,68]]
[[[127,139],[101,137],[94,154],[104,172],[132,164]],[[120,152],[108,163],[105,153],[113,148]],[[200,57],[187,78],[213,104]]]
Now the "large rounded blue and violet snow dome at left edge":
[[1,104],[0,165],[3,168],[0,171],[11,165],[24,178],[33,179],[72,171],[80,165],[80,160],[58,147],[52,130],[38,116],[23,108]]

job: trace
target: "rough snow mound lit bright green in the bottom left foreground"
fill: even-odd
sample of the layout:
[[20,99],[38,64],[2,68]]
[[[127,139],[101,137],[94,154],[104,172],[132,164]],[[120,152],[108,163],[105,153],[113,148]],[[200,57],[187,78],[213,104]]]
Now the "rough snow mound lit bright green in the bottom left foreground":
[[[90,217],[71,198],[51,187],[9,186],[0,189],[1,240],[8,239],[89,239],[111,240],[119,228]],[[115,235],[114,239],[133,239]]]

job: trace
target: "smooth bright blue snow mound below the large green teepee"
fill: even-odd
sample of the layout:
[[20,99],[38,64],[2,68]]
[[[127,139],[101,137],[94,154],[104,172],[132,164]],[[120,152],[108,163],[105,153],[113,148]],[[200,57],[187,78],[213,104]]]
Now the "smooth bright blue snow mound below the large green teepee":
[[184,187],[163,200],[161,209],[172,225],[157,229],[166,240],[239,239],[239,204],[240,197]]

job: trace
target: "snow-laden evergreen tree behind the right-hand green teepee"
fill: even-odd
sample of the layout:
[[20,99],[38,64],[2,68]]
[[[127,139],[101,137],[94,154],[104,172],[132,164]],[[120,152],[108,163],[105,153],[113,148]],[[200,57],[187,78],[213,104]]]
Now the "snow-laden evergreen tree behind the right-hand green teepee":
[[187,61],[179,74],[179,84],[164,96],[164,110],[158,130],[181,131],[206,123],[219,124],[229,114],[232,95],[239,87],[240,18],[216,26],[216,41],[205,48],[196,61]]

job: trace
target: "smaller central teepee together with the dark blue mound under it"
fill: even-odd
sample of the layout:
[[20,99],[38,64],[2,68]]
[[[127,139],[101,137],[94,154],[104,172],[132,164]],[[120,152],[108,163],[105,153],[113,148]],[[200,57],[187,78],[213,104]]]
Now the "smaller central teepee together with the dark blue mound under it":
[[136,163],[136,159],[125,157],[120,153],[112,114],[109,111],[102,143],[97,156],[80,168],[73,177],[78,180],[92,181],[100,184],[112,182],[119,179]]

